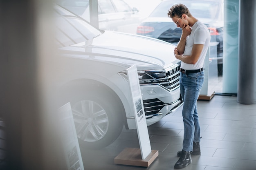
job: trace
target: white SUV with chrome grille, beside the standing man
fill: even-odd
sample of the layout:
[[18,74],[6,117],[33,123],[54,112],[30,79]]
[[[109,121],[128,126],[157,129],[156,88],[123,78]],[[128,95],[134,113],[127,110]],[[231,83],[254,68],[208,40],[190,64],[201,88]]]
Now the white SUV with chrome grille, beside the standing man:
[[81,147],[107,146],[124,125],[136,128],[126,76],[134,64],[148,125],[182,106],[175,46],[96,29],[58,5],[56,13],[59,102],[71,103]]

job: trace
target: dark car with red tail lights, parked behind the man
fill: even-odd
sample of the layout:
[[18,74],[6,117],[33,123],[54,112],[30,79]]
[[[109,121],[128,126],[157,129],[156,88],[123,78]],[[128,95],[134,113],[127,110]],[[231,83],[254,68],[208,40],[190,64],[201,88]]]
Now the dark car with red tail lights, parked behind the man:
[[168,18],[168,9],[182,3],[191,14],[203,22],[211,33],[210,60],[218,60],[218,73],[222,74],[223,59],[223,0],[163,0],[153,12],[137,27],[137,34],[157,38],[174,45],[180,40],[182,29]]

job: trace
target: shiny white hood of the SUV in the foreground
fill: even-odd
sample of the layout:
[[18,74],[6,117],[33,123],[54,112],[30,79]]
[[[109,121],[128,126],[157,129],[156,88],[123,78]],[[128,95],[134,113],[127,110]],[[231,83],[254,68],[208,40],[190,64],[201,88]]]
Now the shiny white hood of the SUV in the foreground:
[[90,60],[115,62],[138,70],[165,69],[179,62],[175,46],[168,42],[140,35],[105,31],[103,34],[60,50],[65,55]]

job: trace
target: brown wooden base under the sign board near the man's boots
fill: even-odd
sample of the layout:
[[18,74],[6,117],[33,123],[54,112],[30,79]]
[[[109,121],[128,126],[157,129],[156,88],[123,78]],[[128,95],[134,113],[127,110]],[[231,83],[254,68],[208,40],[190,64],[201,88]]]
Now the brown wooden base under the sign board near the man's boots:
[[114,163],[149,167],[150,164],[157,158],[157,156],[158,150],[152,150],[146,159],[142,160],[141,150],[139,148],[125,148],[119,155],[117,155],[117,157],[115,157]]

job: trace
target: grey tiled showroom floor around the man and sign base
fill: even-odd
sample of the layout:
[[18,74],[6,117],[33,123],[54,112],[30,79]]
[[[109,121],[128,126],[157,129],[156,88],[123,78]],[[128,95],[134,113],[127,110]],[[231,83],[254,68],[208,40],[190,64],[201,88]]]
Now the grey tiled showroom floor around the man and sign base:
[[[198,101],[198,110],[202,153],[192,156],[191,165],[184,170],[256,170],[256,104],[243,105],[237,102],[237,97],[215,95],[211,101]],[[182,149],[181,111],[148,126],[151,148],[159,151],[148,168],[114,163],[125,148],[139,148],[137,131],[124,129],[106,148],[81,148],[85,170],[173,170],[178,160],[176,152]],[[0,165],[3,141],[0,136]]]

